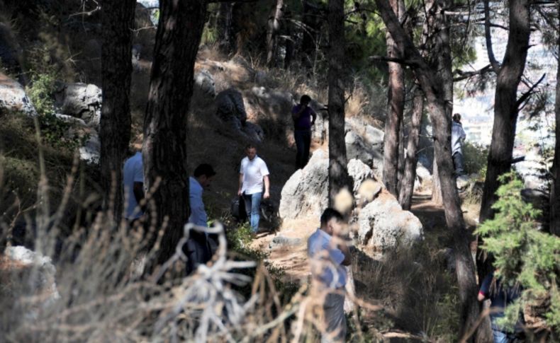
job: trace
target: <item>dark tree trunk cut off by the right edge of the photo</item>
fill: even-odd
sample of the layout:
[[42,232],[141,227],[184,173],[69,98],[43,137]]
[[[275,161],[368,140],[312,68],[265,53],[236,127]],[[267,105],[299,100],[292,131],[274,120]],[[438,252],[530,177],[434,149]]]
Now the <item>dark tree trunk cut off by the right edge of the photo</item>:
[[[558,20],[560,22],[560,2],[556,6]],[[557,28],[558,29],[558,28]],[[550,233],[560,236],[560,29],[558,29],[558,41],[556,42],[558,61],[556,67],[556,100],[554,103],[554,116],[556,118],[556,144],[554,146],[554,163],[552,173],[554,185],[550,192]]]

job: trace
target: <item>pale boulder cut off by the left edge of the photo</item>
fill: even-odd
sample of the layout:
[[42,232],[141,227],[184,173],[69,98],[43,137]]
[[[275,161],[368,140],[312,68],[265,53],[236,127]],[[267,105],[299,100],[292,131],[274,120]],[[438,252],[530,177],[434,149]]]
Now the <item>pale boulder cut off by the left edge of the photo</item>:
[[20,83],[0,73],[0,112],[23,112],[35,116],[37,111]]

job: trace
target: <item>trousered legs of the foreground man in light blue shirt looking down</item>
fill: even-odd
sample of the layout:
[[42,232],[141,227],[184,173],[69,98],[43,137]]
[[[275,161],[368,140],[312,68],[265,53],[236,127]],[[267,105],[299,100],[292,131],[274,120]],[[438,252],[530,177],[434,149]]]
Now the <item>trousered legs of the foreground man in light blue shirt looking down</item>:
[[346,317],[345,296],[338,293],[329,293],[323,304],[326,332],[321,335],[322,343],[345,342]]

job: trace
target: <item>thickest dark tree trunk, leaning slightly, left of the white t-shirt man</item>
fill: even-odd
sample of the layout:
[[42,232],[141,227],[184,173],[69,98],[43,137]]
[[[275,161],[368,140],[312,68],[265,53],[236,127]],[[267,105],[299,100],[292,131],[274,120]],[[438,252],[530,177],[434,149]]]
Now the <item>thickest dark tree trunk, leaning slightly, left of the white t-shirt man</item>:
[[[187,114],[206,1],[162,0],[159,8],[142,156],[145,181],[153,199],[148,222],[164,229],[158,257],[161,263],[174,253],[189,219]],[[159,186],[152,190],[158,181]]]

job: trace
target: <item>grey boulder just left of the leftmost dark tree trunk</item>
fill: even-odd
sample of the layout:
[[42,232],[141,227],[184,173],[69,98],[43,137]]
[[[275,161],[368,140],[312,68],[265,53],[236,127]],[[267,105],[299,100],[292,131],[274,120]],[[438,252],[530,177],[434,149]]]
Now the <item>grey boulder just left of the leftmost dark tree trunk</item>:
[[101,103],[101,88],[93,84],[60,83],[55,91],[55,106],[63,115],[81,118],[92,127],[99,127]]

